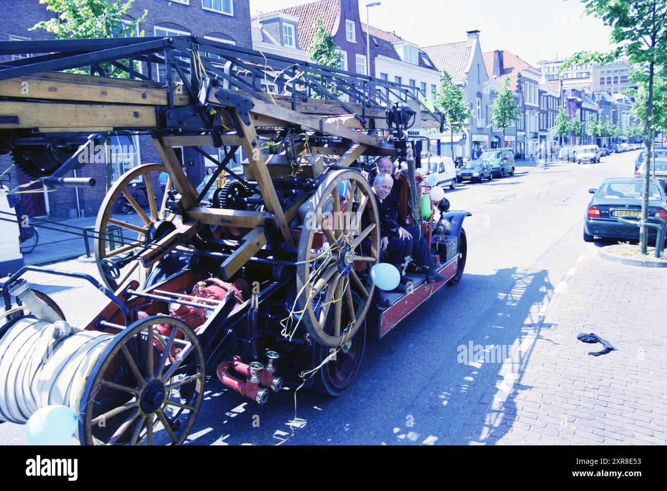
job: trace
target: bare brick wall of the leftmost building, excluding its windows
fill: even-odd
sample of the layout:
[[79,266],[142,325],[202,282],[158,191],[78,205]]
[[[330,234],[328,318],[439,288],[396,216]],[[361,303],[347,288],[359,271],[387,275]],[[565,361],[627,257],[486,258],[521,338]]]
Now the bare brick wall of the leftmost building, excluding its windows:
[[[175,31],[193,33],[199,36],[208,36],[225,41],[233,41],[235,45],[245,48],[252,47],[250,31],[249,0],[233,0],[233,15],[225,15],[202,8],[203,0],[189,0],[189,5],[172,0],[135,0],[127,19],[137,19],[147,10],[145,21],[139,24],[139,30],[144,31],[146,37],[155,35],[155,27],[162,27]],[[39,21],[48,20],[53,13],[47,11],[39,0],[11,0],[3,2],[0,9],[0,40],[7,41],[13,36],[33,40],[50,39],[52,36],[43,29],[29,31],[28,29]],[[217,149],[205,148],[211,155],[217,154]],[[160,159],[155,147],[147,136],[139,137],[139,155],[141,163],[159,163]],[[187,176],[195,185],[203,179],[204,159],[191,149],[183,149],[183,162],[187,165]],[[12,164],[8,155],[0,155],[0,173],[3,173]],[[80,188],[79,209],[85,217],[95,216],[106,194],[105,165],[89,164],[80,171],[79,177],[94,177],[97,185],[93,188]],[[71,177],[70,173],[67,177]],[[13,188],[29,179],[17,167],[11,167],[3,176],[3,180]],[[154,183],[156,193],[159,185]],[[45,209],[43,195],[29,194],[23,196],[29,215],[43,215]],[[59,189],[48,193],[49,217],[64,219],[77,209],[77,190]],[[40,202],[41,200],[41,202]],[[41,211],[40,211],[41,210]],[[32,213],[31,213],[32,211]]]

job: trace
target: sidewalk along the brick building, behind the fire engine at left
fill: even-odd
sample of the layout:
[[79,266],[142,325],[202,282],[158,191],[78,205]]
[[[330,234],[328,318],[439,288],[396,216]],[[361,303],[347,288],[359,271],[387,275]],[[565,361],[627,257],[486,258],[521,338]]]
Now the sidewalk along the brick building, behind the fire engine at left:
[[[135,225],[141,225],[139,215],[135,213],[129,215],[113,215],[113,218]],[[39,233],[39,243],[33,252],[23,254],[25,264],[39,266],[51,262],[73,259],[85,254],[85,245],[83,243],[83,227],[94,226],[96,217],[85,217],[81,219],[67,219],[54,221],[51,219],[32,219],[31,225]],[[125,241],[134,240],[135,233],[129,230],[123,230]],[[89,234],[88,243],[93,252],[93,234]]]

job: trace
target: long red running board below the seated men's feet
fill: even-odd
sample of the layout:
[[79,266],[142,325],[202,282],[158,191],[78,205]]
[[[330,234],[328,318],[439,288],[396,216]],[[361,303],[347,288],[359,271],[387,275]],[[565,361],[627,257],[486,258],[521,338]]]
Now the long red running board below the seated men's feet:
[[[434,292],[446,284],[456,274],[458,265],[458,254],[450,262],[446,263],[438,272],[447,279],[439,283],[428,284],[424,275],[419,275],[419,282],[415,282],[410,293],[388,293],[386,296],[392,302],[392,306],[385,308],[378,314],[378,338],[383,338],[396,325],[404,319],[412,310],[424,303]],[[410,275],[417,278],[417,275]],[[414,278],[411,278],[414,279]]]

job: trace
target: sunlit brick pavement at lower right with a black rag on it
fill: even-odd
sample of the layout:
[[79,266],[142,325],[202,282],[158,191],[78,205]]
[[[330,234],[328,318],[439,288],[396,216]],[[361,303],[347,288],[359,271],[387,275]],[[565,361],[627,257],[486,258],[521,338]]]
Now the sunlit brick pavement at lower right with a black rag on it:
[[[575,269],[576,268],[576,269]],[[592,247],[531,315],[458,444],[665,444],[667,270],[608,262]],[[531,319],[538,318],[537,322]],[[594,332],[618,351],[588,352]]]

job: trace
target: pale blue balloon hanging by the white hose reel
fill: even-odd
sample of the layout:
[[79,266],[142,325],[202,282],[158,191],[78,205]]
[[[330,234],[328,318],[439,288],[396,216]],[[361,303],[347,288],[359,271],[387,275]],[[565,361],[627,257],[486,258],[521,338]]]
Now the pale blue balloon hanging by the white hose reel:
[[67,406],[51,404],[30,416],[25,439],[31,445],[64,445],[76,429],[77,414]]

